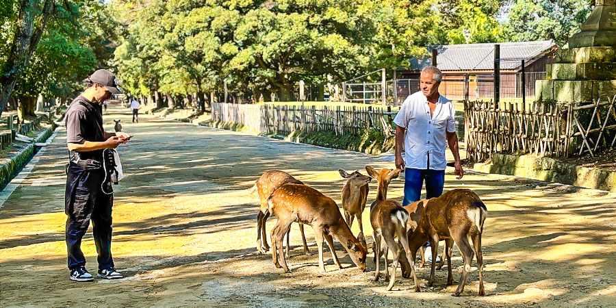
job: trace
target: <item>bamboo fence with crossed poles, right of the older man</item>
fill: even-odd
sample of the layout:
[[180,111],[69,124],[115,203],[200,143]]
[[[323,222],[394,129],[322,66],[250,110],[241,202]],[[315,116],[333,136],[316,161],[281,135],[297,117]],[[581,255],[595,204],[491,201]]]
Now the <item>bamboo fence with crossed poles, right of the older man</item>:
[[492,153],[594,157],[616,142],[616,96],[579,106],[534,104],[528,111],[477,101],[465,103],[464,112],[467,158],[474,161]]

